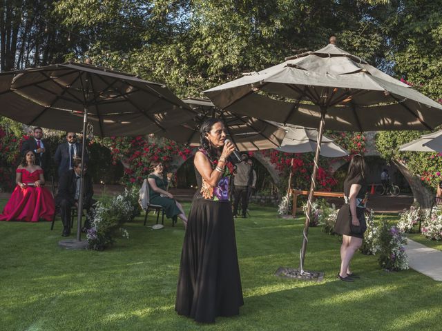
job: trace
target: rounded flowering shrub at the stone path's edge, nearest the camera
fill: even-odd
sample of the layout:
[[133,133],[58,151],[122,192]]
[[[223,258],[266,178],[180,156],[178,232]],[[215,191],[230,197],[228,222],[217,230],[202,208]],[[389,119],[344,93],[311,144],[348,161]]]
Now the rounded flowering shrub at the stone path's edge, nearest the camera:
[[394,225],[381,221],[378,228],[379,265],[386,270],[408,269],[408,257],[404,245],[407,238]]

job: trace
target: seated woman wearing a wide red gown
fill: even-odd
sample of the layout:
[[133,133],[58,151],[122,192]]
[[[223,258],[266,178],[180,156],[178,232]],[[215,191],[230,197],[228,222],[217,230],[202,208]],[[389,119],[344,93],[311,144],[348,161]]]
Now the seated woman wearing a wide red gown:
[[28,150],[21,160],[15,182],[17,187],[0,214],[0,221],[52,221],[55,214],[54,198],[47,188],[41,187],[44,185],[43,170],[35,165],[32,150]]

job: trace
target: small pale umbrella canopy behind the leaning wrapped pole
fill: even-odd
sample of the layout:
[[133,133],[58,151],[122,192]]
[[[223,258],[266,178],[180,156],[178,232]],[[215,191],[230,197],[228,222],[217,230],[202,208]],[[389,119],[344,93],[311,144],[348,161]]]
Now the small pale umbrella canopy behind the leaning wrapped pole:
[[[282,140],[281,146],[276,150],[286,153],[307,153],[316,150],[318,130],[290,124],[282,126],[282,128],[287,130],[287,134]],[[349,153],[332,139],[323,136],[320,154],[323,157],[346,157]]]

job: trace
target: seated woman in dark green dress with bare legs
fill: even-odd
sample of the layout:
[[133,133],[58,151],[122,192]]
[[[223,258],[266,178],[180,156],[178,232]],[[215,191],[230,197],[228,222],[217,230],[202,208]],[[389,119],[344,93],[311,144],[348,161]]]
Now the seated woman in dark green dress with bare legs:
[[169,181],[163,176],[164,167],[162,163],[152,162],[151,168],[153,169],[153,172],[147,177],[151,203],[154,205],[162,205],[165,209],[166,217],[169,219],[180,217],[184,223],[184,228],[186,228],[187,217],[181,203],[173,199],[173,195],[167,192]]

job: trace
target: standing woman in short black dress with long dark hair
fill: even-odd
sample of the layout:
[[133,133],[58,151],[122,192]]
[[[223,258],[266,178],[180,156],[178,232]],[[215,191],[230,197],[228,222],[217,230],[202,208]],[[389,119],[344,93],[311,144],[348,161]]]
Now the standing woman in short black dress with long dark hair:
[[335,232],[343,235],[340,246],[340,271],[338,279],[354,281],[358,276],[350,271],[350,261],[354,252],[362,245],[365,222],[365,202],[367,183],[365,182],[365,160],[357,154],[350,162],[347,178],[344,181],[345,205],[340,208],[336,219]]

